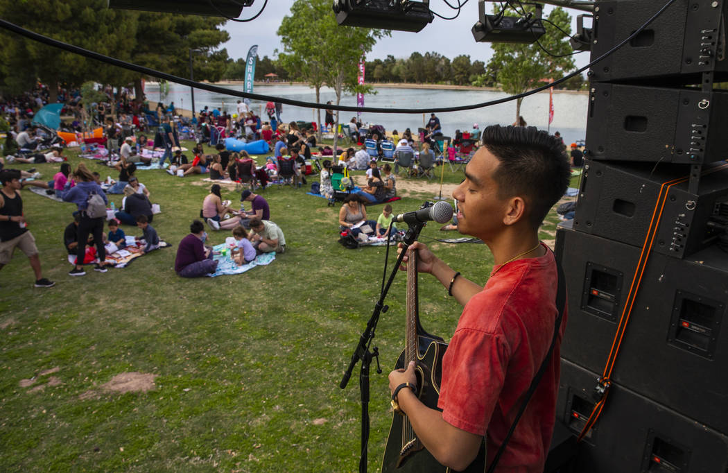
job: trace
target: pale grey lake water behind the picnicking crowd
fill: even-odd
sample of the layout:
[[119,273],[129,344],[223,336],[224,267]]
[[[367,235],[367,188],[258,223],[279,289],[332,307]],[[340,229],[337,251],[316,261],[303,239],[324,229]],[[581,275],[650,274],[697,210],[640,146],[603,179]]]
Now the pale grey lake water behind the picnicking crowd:
[[[242,90],[242,84],[222,85],[221,87],[231,90]],[[266,84],[256,85],[253,89],[256,94],[272,95],[275,97],[289,98],[293,100],[315,101],[314,90],[302,84]],[[440,108],[460,106],[473,103],[481,103],[489,100],[497,100],[507,97],[504,92],[492,90],[449,90],[449,89],[425,89],[425,88],[401,88],[401,87],[376,87],[376,95],[365,96],[365,106],[371,107],[392,107],[392,108]],[[154,103],[174,102],[180,108],[191,108],[190,88],[170,84],[170,91],[165,98],[159,98],[159,84],[151,82],[146,84],[145,93],[147,99]],[[586,93],[554,92],[554,117],[550,131],[561,132],[563,140],[569,144],[576,140],[583,140],[586,135],[587,103]],[[215,94],[206,90],[195,89],[194,105],[197,110],[204,106],[209,108],[220,107],[229,113],[235,113],[235,104],[238,98],[231,95]],[[321,91],[321,103],[331,100],[336,103],[336,93],[328,87]],[[521,115],[529,125],[547,129],[548,127],[548,91],[531,95],[523,100],[521,104]],[[264,111],[265,103],[258,100],[250,102],[254,111]],[[356,106],[355,95],[344,95],[341,98],[341,105]],[[263,114],[261,113],[261,116]],[[355,116],[353,112],[341,112],[340,122],[349,122]],[[515,100],[508,103],[501,103],[486,108],[474,110],[448,112],[438,114],[443,132],[446,135],[454,135],[455,130],[470,130],[472,124],[477,123],[480,129],[489,124],[511,124],[515,121]],[[296,106],[283,106],[281,119],[285,122],[303,120],[304,122],[314,121],[312,108],[301,108]],[[321,120],[324,114],[321,112]],[[430,119],[429,114],[424,120]],[[370,114],[361,115],[361,121],[368,124],[381,124],[387,131],[397,130],[400,135],[405,128],[416,131],[423,125],[422,114]]]

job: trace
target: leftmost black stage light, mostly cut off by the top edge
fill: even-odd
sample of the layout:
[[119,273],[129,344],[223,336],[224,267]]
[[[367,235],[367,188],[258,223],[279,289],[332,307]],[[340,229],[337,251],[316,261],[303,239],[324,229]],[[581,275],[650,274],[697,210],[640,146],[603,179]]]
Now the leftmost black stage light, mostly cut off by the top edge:
[[250,7],[253,0],[106,0],[114,9],[141,10],[142,12],[180,13],[207,17],[240,16],[243,7]]

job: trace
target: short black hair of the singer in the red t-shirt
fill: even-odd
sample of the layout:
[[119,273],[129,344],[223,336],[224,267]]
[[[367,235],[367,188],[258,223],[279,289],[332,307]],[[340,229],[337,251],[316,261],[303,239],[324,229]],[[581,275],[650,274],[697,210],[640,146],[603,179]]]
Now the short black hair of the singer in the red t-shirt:
[[571,167],[561,141],[536,127],[500,125],[486,127],[481,139],[500,162],[493,174],[499,198],[523,196],[526,218],[538,228],[569,186]]

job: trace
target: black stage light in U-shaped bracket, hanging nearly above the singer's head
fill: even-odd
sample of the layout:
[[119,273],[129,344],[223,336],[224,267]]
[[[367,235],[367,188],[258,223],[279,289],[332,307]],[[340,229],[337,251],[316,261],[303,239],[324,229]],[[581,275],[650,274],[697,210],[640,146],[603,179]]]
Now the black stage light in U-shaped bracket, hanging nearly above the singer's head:
[[546,30],[541,21],[543,6],[536,4],[536,13],[525,17],[486,15],[486,1],[478,1],[478,23],[472,25],[472,37],[482,43],[525,43],[537,41]]

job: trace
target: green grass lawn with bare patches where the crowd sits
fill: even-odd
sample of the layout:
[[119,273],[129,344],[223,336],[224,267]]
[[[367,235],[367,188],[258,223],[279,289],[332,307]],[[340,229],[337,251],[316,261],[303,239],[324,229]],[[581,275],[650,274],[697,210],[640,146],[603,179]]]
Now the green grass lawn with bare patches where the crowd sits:
[[[117,177],[67,154],[73,167],[83,161]],[[36,167],[44,179],[58,170]],[[359,365],[347,389],[339,381],[379,294],[386,248],[347,250],[336,241],[338,204],[306,195],[309,186],[273,186],[260,194],[285,232],[286,253],[237,276],[182,279],[173,270],[176,244],[210,183],[161,170],[137,175],[162,207],[153,226],[173,247],[106,274],[69,277],[63,229],[75,206],[22,192],[44,276],[57,284],[33,288],[19,251],[0,271],[0,470],[356,471]],[[461,179],[462,171],[446,169],[446,182]],[[415,210],[433,195],[410,192],[392,207]],[[121,196],[110,197],[119,207]],[[223,199],[240,196],[223,188]],[[381,207],[371,207],[370,218]],[[557,221],[552,211],[543,239],[553,239]],[[427,226],[421,240],[459,237],[439,227]],[[230,236],[208,233],[213,244]],[[465,277],[486,282],[492,259],[485,245],[432,247]],[[391,423],[387,373],[403,348],[404,287],[402,274],[376,332],[384,372],[371,372],[370,471],[379,470]],[[425,329],[449,339],[458,304],[432,277],[420,278],[419,294]],[[122,373],[155,375],[154,387],[103,389]]]

